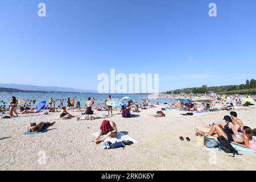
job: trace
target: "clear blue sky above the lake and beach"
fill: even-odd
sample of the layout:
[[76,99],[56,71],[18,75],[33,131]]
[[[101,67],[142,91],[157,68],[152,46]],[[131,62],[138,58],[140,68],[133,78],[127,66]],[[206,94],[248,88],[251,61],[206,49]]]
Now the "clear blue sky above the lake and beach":
[[255,0],[2,0],[0,82],[96,90],[115,68],[159,73],[160,91],[241,84],[256,78],[255,19]]

